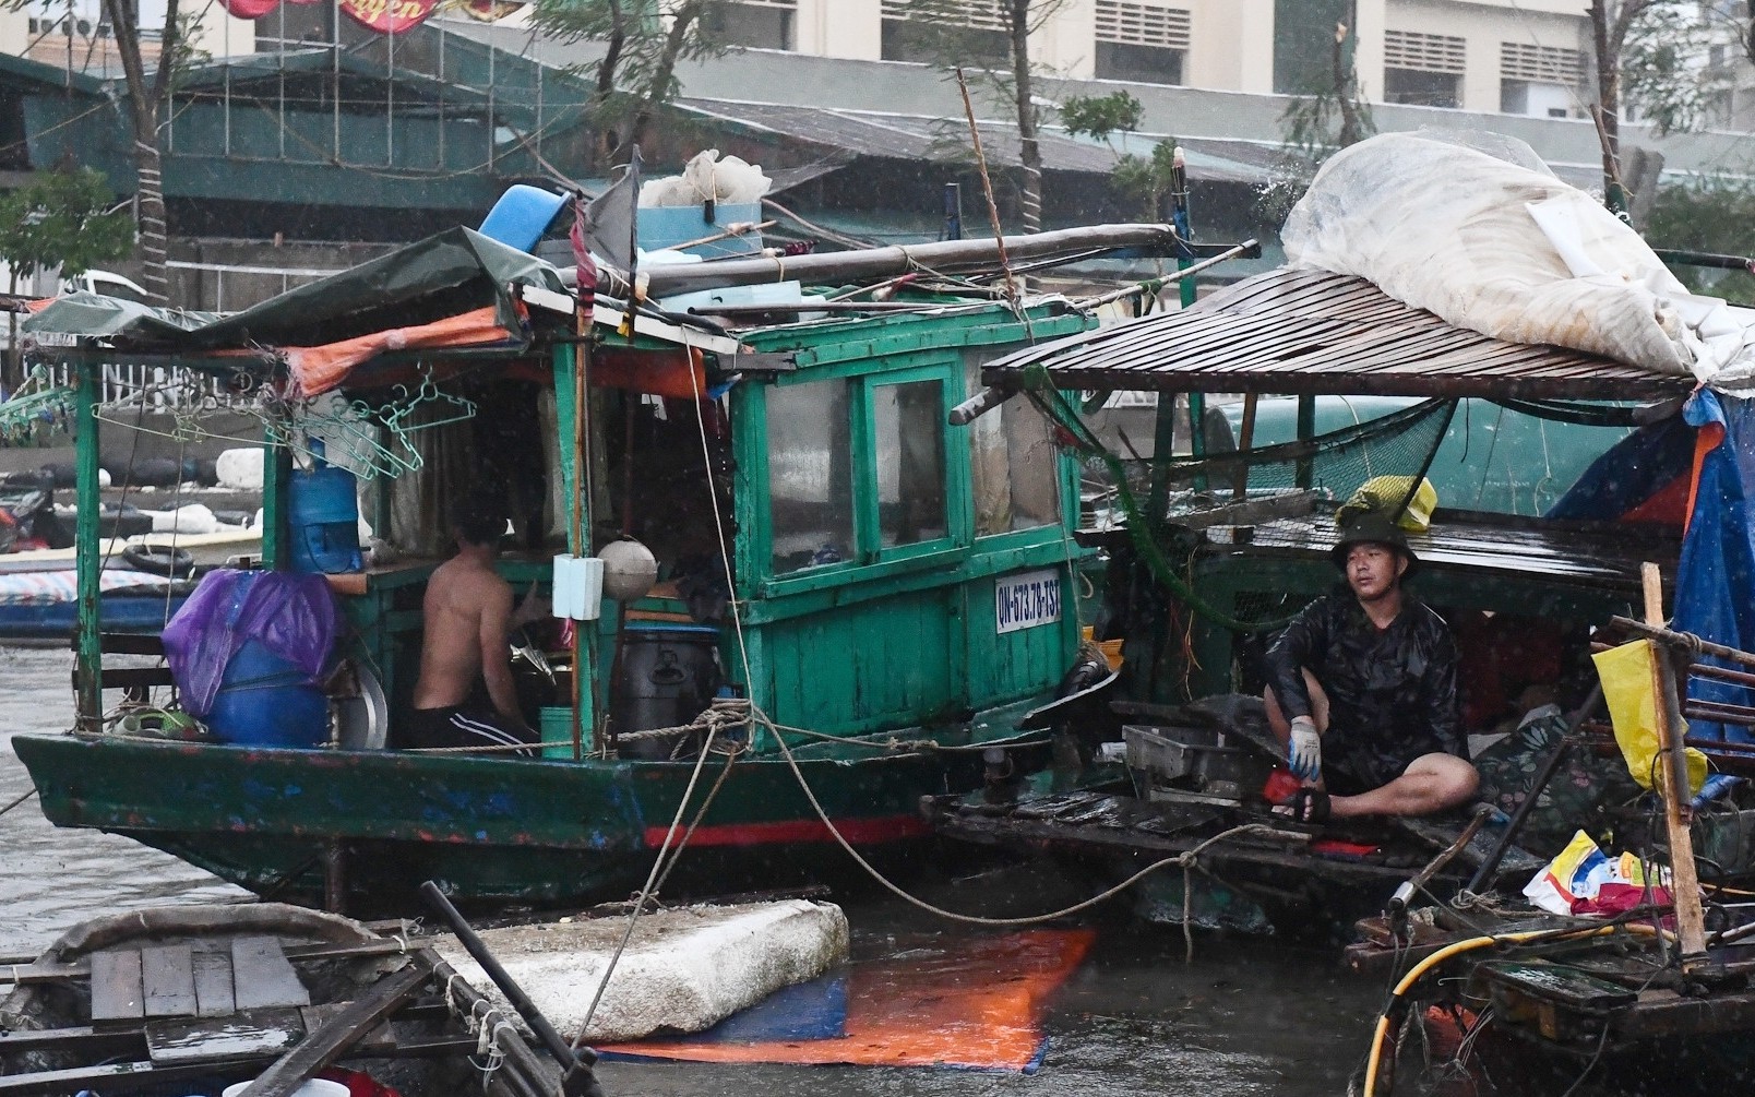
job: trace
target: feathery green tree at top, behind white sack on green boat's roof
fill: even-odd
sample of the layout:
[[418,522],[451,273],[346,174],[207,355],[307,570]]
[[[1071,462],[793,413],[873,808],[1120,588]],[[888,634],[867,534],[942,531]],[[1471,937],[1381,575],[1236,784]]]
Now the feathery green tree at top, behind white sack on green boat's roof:
[[602,42],[604,54],[576,65],[591,84],[591,123],[605,163],[628,158],[663,104],[676,98],[676,67],[725,53],[713,33],[725,0],[535,0],[532,23],[558,42]]

